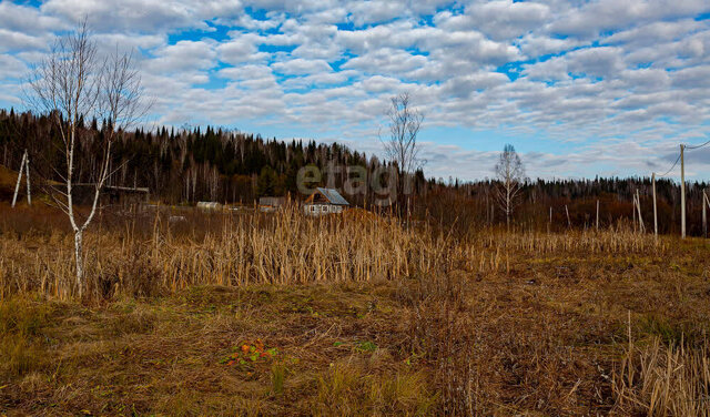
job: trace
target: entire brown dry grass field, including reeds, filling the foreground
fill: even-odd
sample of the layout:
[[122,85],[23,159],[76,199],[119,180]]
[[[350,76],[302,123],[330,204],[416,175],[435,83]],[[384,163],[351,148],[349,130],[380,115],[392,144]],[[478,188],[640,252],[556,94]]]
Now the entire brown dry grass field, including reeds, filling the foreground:
[[0,415],[708,416],[710,248],[0,206]]

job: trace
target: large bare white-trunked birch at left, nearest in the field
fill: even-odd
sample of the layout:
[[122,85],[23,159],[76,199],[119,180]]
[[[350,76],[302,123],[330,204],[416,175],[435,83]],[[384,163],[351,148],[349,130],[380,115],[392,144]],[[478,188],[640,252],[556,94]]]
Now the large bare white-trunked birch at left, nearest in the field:
[[[54,166],[52,170],[61,177],[65,190],[53,187],[50,195],[67,213],[74,232],[77,291],[81,296],[85,286],[83,233],[94,218],[101,190],[111,175],[112,144],[148,110],[142,105],[141,79],[130,53],[120,53],[116,49],[100,58],[84,19],[75,30],[55,40],[48,57],[33,69],[29,85],[29,106],[50,115],[63,144],[65,172]],[[102,143],[97,143],[101,155],[97,157],[95,172],[91,173],[91,207],[82,215],[77,210],[74,195],[77,153],[82,149],[82,140],[95,141],[98,138],[82,138],[85,132],[79,128],[84,120],[94,116],[104,121],[104,134]]]

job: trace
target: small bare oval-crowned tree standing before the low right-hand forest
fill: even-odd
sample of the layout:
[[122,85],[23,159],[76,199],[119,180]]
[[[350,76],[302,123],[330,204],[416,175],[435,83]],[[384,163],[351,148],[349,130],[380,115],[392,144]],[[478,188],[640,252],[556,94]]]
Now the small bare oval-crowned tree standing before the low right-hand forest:
[[520,190],[525,181],[525,167],[511,144],[506,144],[495,167],[499,181],[496,197],[506,214],[506,227],[510,227],[510,215],[519,203]]

